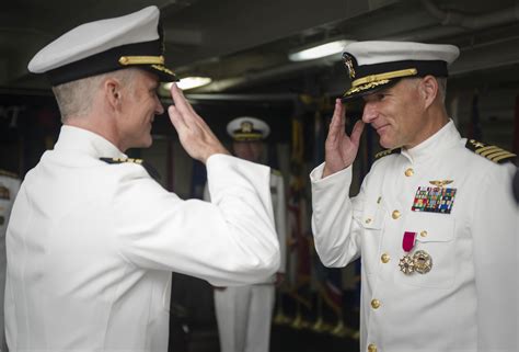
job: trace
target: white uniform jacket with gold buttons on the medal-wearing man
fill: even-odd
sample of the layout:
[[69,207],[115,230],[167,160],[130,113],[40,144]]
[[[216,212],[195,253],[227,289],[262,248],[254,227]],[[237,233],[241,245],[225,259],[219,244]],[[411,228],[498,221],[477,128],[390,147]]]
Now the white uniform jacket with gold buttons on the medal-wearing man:
[[[325,265],[361,257],[361,351],[516,352],[518,350],[518,207],[514,166],[464,147],[452,122],[420,145],[373,163],[360,193],[348,196],[351,168],[311,173],[313,230]],[[412,211],[418,186],[450,180],[450,214]],[[405,275],[404,231],[430,272]]]

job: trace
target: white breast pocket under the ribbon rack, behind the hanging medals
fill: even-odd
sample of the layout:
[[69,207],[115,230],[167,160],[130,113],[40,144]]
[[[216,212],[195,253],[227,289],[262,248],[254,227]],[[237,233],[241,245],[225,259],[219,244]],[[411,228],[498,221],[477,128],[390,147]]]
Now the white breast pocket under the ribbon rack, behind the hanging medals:
[[[449,288],[455,273],[455,220],[445,214],[411,213],[405,225],[416,232],[411,254],[424,251],[430,259],[430,271],[410,275],[397,271],[396,281],[405,285],[427,288]],[[403,256],[403,251],[402,251]]]

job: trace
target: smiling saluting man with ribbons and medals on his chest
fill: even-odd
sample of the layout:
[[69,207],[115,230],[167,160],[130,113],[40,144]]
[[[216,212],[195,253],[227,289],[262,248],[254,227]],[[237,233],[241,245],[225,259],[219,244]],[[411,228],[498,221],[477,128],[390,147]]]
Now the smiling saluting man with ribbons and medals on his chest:
[[[321,260],[361,257],[361,351],[518,351],[515,156],[461,138],[445,104],[452,45],[358,42],[346,47],[362,121],[344,132],[341,100],[325,162],[311,173]],[[365,124],[379,156],[350,198]]]

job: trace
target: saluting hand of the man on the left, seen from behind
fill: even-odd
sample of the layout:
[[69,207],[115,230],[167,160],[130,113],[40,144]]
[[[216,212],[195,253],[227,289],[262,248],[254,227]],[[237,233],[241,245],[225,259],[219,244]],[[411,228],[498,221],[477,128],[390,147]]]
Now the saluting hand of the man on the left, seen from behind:
[[214,154],[230,154],[175,83],[171,87],[171,98],[175,104],[168,109],[170,120],[178,133],[182,146],[192,158],[206,163]]

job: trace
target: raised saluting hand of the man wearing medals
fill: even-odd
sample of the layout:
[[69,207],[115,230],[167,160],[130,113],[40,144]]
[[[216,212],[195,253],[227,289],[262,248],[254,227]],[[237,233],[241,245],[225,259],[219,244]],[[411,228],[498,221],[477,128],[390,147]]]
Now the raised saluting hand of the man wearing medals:
[[346,109],[341,102],[341,99],[337,99],[324,145],[325,164],[323,178],[349,167],[354,163],[355,157],[357,156],[360,135],[364,130],[364,122],[357,121],[351,130],[351,136],[348,136],[344,129],[346,125],[345,115]]

